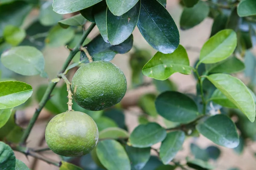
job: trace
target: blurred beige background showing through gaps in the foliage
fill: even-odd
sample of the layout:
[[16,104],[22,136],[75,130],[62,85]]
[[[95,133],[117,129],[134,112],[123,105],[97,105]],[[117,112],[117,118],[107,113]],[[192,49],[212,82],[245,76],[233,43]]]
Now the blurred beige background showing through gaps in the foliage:
[[[172,15],[173,19],[175,20],[175,23],[177,24],[177,27],[179,27],[179,20],[180,15],[182,12],[183,7],[180,6],[179,0],[167,0],[167,10]],[[33,10],[29,16],[26,18],[25,23],[23,24],[23,28],[26,28],[29,23],[31,23],[39,14],[39,10]],[[64,17],[70,17],[69,15],[65,15]],[[189,29],[187,31],[180,30],[180,44],[183,45],[187,53],[189,55],[190,65],[193,66],[198,59],[200,49],[203,46],[204,42],[206,42],[210,36],[211,28],[212,28],[213,20],[211,18],[205,19],[202,23],[200,23],[198,26],[195,26],[192,29]],[[87,23],[89,25],[89,23]],[[88,27],[88,25],[86,26]],[[95,37],[97,34],[99,34],[98,29],[94,28],[92,33],[89,35],[89,38]],[[143,50],[143,55],[145,55],[148,59],[153,57],[153,55],[156,53],[156,51],[148,45],[148,43],[144,40],[142,35],[140,34],[140,31],[138,28],[135,28],[134,32],[134,46],[139,49]],[[65,36],[65,35],[62,35]],[[67,58],[69,51],[67,48],[58,47],[53,48],[50,46],[44,47],[42,50],[45,58],[45,71],[49,75],[49,79],[52,79],[55,77],[55,75],[58,73],[58,71],[61,69],[62,64],[64,63],[65,59]],[[152,79],[144,77],[144,82],[137,86],[132,84],[132,65],[134,63],[130,63],[131,57],[134,57],[137,55],[135,53],[136,49],[132,48],[131,51],[129,51],[127,54],[117,54],[116,57],[111,61],[114,64],[116,64],[121,70],[124,72],[127,82],[128,82],[128,90],[125,97],[122,99],[121,103],[117,105],[116,107],[123,107],[125,108],[124,113],[122,115],[125,116],[125,125],[127,127],[127,130],[131,132],[140,121],[143,121],[143,112],[147,112],[147,108],[143,108],[145,106],[145,103],[149,105],[149,103],[153,103],[154,105],[154,97],[155,95],[159,94],[159,88],[160,85],[157,85],[157,81],[152,82]],[[252,49],[252,53],[255,53],[255,49]],[[135,56],[136,57],[136,56]],[[136,65],[136,63],[135,63]],[[29,119],[31,119],[35,108],[38,105],[38,99],[42,97],[44,94],[44,89],[46,88],[49,79],[44,79],[42,77],[38,76],[30,76],[30,77],[24,77],[20,76],[18,74],[15,74],[12,71],[7,70],[3,65],[0,65],[0,70],[2,72],[2,79],[3,78],[13,78],[16,80],[20,80],[23,82],[26,82],[33,87],[33,94],[32,98],[29,100],[29,102],[26,102],[25,105],[29,105],[26,109],[20,108],[17,111],[16,118],[17,118],[17,124],[23,127],[26,127]],[[75,69],[71,70],[68,74],[68,79],[71,81],[73,74],[75,73]],[[141,71],[141,68],[140,68]],[[239,73],[236,76],[238,76],[242,81],[247,83],[249,80],[248,78],[244,77],[243,73]],[[196,80],[193,77],[193,75],[183,75],[183,74],[173,74],[170,78],[169,87],[170,89],[180,91],[183,93],[191,93],[195,94],[196,92]],[[51,103],[52,106],[49,106],[48,108],[51,109],[44,109],[39,118],[37,123],[32,129],[32,133],[29,135],[28,139],[28,147],[36,148],[36,147],[46,147],[46,143],[44,141],[44,130],[47,125],[47,122],[54,116],[52,114],[53,112],[64,112],[67,110],[67,105],[61,105],[58,103],[58,101],[62,101],[63,98],[58,93],[61,93],[61,88],[63,85],[63,81],[61,80],[58,83],[58,90],[54,91]],[[65,91],[65,90],[64,90]],[[143,95],[147,94],[147,96]],[[152,94],[152,95],[151,95]],[[62,95],[64,98],[66,94]],[[140,107],[137,106],[139,103]],[[75,106],[75,108],[78,106]],[[150,110],[151,108],[149,108]],[[51,111],[49,111],[51,110]],[[154,108],[153,108],[154,110]],[[111,112],[105,111],[105,112]],[[116,111],[115,111],[116,112]],[[149,111],[150,112],[150,111]],[[90,113],[92,114],[92,113]],[[97,113],[98,114],[98,113]],[[95,113],[94,116],[97,114]],[[102,113],[99,113],[102,114]],[[104,113],[105,117],[109,118],[110,113]],[[113,115],[118,114],[117,112]],[[154,113],[152,113],[154,114]],[[112,116],[113,116],[112,115]],[[117,119],[123,119],[122,116],[115,116]],[[160,117],[152,117],[152,121],[160,122],[161,125],[165,127],[171,127],[172,122],[167,122],[163,120],[163,118]],[[100,122],[108,122],[108,119],[99,120]],[[112,121],[112,120],[111,120]],[[112,122],[106,123],[107,125],[102,125],[103,127],[99,128],[105,128],[116,126],[116,123]],[[250,126],[247,130],[255,131],[256,126],[254,124]],[[253,135],[255,135],[253,133]],[[193,138],[189,137],[185,140],[185,143],[183,144],[183,149],[177,153],[177,156],[175,156],[175,159],[177,160],[185,160],[187,155],[192,156],[192,150],[190,148],[191,143],[194,143],[198,145],[199,147],[194,147],[198,151],[198,153],[201,153],[201,155],[204,154],[204,150],[209,146],[216,146],[212,142],[210,142],[208,139],[204,138],[204,136],[200,136],[199,138]],[[159,145],[155,146],[156,148],[159,147]],[[218,146],[218,148],[221,150],[221,155],[217,161],[211,160],[210,162],[216,167],[216,170],[227,170],[230,167],[237,167],[240,170],[254,170],[256,167],[256,144],[253,142],[247,142],[246,147],[236,148],[236,149],[229,149],[224,148],[221,146]],[[52,153],[51,151],[47,151],[42,153],[47,158],[60,161],[61,158],[58,157],[56,154]],[[154,155],[155,153],[152,152]],[[55,167],[53,165],[49,165],[43,161],[35,160],[34,158],[28,156],[24,156],[21,153],[15,153],[17,156],[17,159],[20,159],[21,161],[25,162],[26,165],[28,165],[29,168],[33,168],[33,170],[57,170],[58,167]],[[195,155],[195,154],[194,154]],[[82,161],[84,169],[90,169],[93,170],[93,161],[91,161],[90,155],[83,158],[86,159]],[[68,158],[65,158],[68,159]],[[77,160],[73,160],[73,163],[76,163]],[[81,161],[81,160],[80,160]],[[143,169],[144,170],[144,169]],[[146,170],[146,169],[145,169]],[[234,169],[235,170],[235,169]]]

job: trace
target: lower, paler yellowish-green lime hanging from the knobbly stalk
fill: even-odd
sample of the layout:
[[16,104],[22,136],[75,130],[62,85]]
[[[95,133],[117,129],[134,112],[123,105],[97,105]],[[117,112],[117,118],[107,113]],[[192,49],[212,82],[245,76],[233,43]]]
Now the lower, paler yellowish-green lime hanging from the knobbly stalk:
[[48,147],[61,156],[83,156],[96,146],[99,131],[93,119],[79,111],[53,117],[45,131]]

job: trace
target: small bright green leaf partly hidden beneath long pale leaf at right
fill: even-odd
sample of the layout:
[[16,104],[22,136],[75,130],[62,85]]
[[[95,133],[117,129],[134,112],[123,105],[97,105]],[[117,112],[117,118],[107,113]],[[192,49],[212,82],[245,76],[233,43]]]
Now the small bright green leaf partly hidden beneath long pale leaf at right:
[[216,89],[210,100],[212,100],[212,102],[217,103],[218,105],[221,105],[223,107],[227,107],[227,108],[237,108],[236,105],[233,104],[233,102],[231,102],[220,90]]

